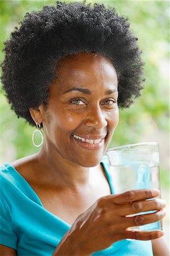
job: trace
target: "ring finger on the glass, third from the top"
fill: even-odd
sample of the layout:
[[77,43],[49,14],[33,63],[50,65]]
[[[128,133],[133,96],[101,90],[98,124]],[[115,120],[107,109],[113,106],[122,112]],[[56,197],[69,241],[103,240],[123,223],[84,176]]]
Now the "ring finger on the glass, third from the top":
[[140,226],[148,223],[156,222],[165,217],[165,209],[157,210],[155,213],[141,214],[134,217],[125,217],[126,225],[130,226]]

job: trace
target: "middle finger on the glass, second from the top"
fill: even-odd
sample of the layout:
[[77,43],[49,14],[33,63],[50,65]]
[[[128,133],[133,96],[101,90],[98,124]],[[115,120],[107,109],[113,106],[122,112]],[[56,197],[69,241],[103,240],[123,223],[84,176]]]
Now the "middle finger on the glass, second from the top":
[[166,206],[162,199],[148,200],[148,201],[135,201],[130,204],[122,205],[119,208],[119,216],[126,216],[139,212],[147,212],[148,210],[161,210]]

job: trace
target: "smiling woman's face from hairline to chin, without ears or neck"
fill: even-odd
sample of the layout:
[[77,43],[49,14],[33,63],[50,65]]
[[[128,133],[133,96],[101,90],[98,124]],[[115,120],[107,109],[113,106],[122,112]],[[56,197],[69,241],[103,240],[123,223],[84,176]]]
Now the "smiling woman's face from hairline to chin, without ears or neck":
[[96,166],[118,125],[117,99],[117,73],[109,59],[84,52],[61,60],[43,114],[49,150],[80,166]]

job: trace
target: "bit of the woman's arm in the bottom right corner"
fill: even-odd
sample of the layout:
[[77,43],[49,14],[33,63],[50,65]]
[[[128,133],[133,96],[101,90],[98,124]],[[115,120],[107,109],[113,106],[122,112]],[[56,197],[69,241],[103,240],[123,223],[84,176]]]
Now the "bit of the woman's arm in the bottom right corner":
[[165,245],[164,238],[160,237],[155,240],[152,240],[152,248],[154,256],[169,256],[169,251]]

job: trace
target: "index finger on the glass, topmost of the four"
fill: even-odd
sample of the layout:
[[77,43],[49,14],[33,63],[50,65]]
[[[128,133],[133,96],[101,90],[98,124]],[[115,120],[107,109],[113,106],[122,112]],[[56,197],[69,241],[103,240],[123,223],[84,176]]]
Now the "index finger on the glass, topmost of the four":
[[132,201],[151,199],[159,196],[159,194],[159,189],[138,189],[110,197],[112,198],[114,204],[127,204]]

